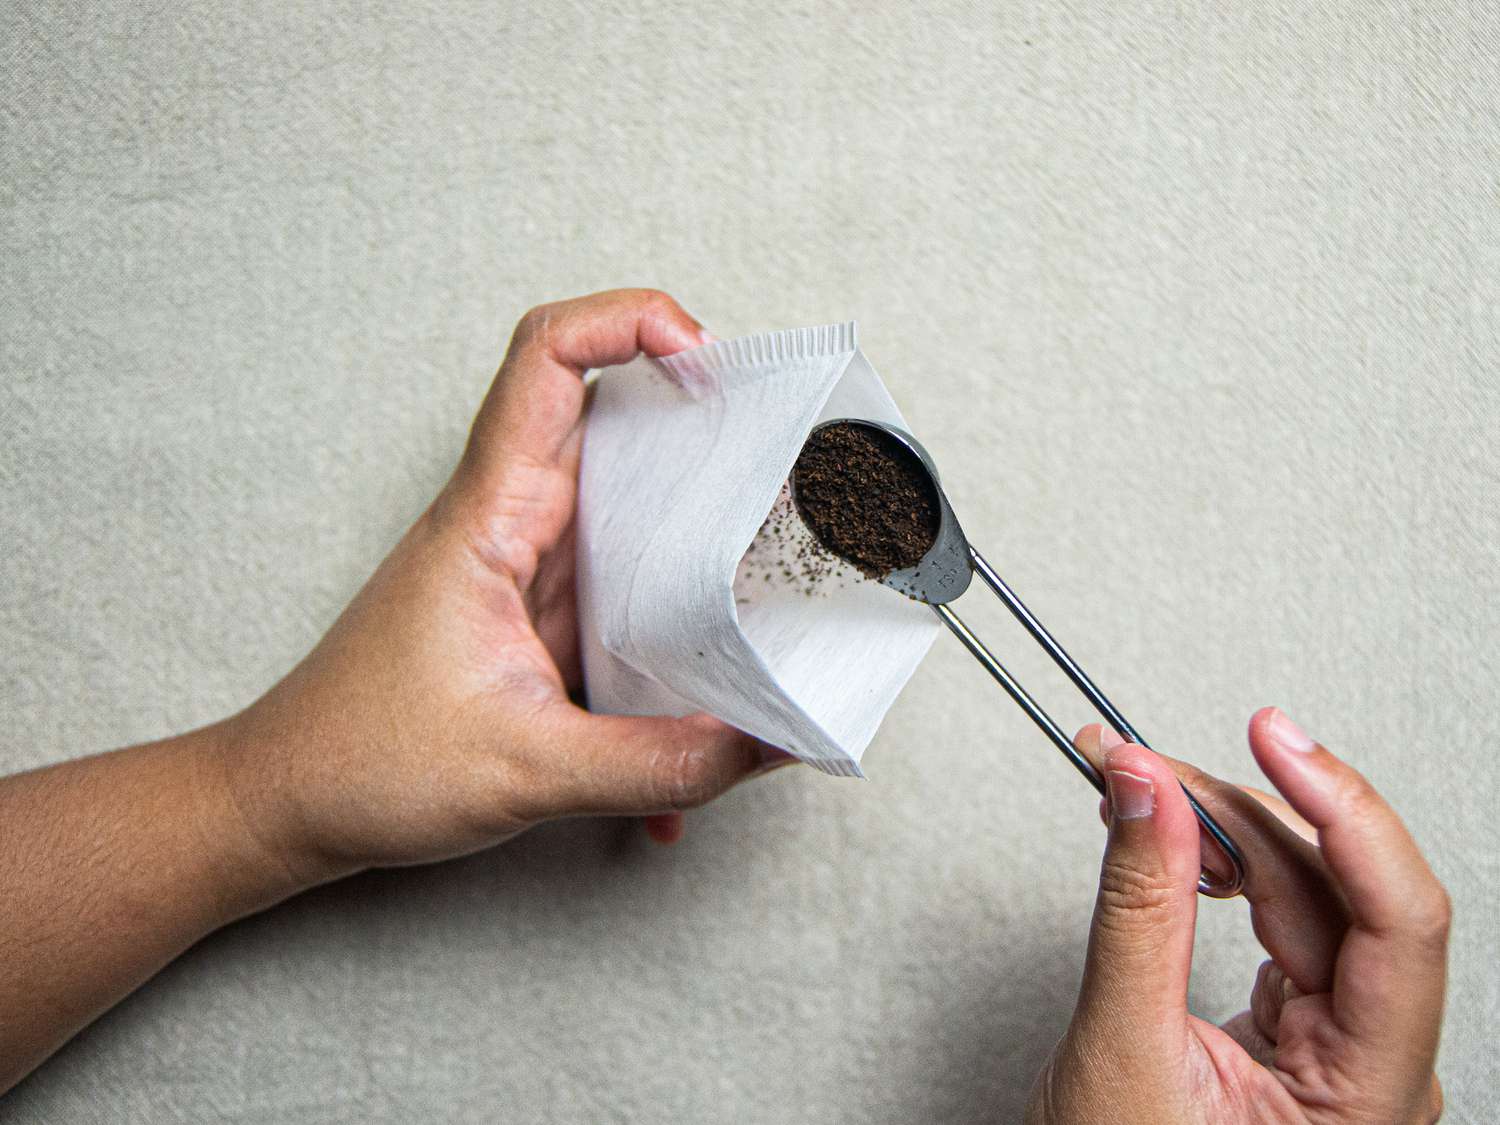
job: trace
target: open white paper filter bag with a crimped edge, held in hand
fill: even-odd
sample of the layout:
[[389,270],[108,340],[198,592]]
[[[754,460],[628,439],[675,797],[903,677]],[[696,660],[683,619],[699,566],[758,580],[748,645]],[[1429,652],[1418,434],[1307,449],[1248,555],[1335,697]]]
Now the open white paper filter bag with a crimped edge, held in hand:
[[938,622],[850,567],[800,556],[810,536],[784,483],[808,430],[836,417],[906,428],[854,324],[640,358],[594,390],[578,508],[590,706],[708,711],[862,777]]

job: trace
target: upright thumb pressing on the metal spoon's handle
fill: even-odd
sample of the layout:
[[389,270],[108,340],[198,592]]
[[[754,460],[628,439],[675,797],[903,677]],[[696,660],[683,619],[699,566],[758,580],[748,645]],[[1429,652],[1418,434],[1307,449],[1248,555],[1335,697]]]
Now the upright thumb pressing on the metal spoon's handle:
[[1161,758],[1113,732],[1102,748],[1110,838],[1074,1035],[1160,1065],[1186,1030],[1198,826]]

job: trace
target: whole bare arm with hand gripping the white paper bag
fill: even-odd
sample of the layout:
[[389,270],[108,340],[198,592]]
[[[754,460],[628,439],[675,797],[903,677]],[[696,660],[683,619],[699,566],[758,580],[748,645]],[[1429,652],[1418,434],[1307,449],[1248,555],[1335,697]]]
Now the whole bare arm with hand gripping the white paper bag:
[[210,930],[540,820],[676,818],[786,753],[708,716],[594,716],[573,604],[588,368],[702,340],[621,290],[516,328],[453,480],[264,698],[0,780],[0,1089]]

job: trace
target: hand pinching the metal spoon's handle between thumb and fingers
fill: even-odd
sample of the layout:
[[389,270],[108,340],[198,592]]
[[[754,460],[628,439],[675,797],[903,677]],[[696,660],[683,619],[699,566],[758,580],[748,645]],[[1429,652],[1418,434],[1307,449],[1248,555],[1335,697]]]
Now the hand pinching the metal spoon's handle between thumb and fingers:
[[1270,954],[1250,1010],[1221,1029],[1186,1008],[1200,846],[1173,764],[1098,726],[1078,734],[1104,764],[1110,837],[1078,1004],[1028,1122],[1390,1125],[1442,1113],[1443,886],[1370,783],[1284,714],[1257,712],[1250,744],[1290,824],[1275,798],[1179,765],[1245,854],[1251,921]]

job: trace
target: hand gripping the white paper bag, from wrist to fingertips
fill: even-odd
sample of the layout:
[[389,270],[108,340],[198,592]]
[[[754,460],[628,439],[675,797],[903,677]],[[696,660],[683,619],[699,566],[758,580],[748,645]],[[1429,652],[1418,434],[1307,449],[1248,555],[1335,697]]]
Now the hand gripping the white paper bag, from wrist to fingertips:
[[664,814],[789,759],[708,716],[592,716],[573,512],[584,370],[704,342],[620,290],[522,318],[462,462],[314,652],[219,740],[246,824],[296,882],[440,860],[592,813]]

